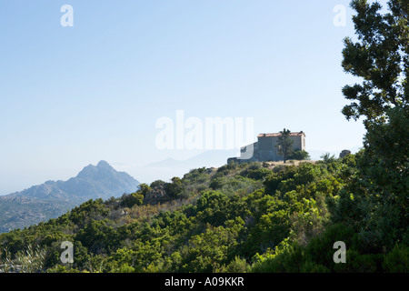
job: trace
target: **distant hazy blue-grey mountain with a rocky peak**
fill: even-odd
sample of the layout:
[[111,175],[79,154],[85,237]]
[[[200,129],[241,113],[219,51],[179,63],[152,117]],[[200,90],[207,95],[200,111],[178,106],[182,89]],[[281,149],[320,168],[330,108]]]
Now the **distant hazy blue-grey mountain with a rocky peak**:
[[88,199],[121,196],[137,189],[139,182],[117,172],[105,161],[85,166],[67,181],[47,181],[21,192],[0,196],[0,232],[24,228],[56,218]]

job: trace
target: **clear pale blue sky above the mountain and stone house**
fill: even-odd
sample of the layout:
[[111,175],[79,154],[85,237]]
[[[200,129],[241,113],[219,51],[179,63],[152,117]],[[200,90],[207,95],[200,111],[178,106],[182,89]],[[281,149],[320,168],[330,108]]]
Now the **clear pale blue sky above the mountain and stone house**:
[[176,110],[253,117],[255,135],[303,130],[307,151],[362,146],[362,122],[340,113],[352,13],[349,0],[0,0],[0,195],[102,159],[167,180],[147,165],[200,153],[155,146]]

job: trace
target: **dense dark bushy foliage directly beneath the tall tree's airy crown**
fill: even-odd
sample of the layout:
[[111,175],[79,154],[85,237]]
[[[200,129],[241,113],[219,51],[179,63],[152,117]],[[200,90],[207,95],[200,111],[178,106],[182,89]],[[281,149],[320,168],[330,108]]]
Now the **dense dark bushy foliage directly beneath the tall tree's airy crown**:
[[407,243],[409,230],[409,136],[408,113],[400,107],[386,112],[388,123],[372,122],[364,138],[365,151],[357,166],[355,181],[359,206],[364,216],[364,236],[377,246],[392,249]]

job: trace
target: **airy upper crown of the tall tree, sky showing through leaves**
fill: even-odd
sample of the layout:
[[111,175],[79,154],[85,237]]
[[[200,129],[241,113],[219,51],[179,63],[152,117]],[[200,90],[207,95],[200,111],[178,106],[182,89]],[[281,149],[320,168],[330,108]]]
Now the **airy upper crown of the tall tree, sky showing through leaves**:
[[362,84],[345,85],[343,113],[347,119],[366,117],[364,124],[383,121],[384,113],[394,106],[408,110],[409,85],[409,6],[404,0],[388,1],[388,13],[382,14],[378,2],[353,0],[353,16],[358,41],[344,40],[344,71],[363,79]]

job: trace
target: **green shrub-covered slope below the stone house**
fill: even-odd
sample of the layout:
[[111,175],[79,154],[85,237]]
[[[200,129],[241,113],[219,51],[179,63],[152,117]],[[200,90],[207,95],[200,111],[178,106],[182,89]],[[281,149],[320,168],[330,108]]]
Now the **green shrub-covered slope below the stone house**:
[[[89,200],[0,235],[3,268],[15,270],[28,248],[35,264],[19,271],[407,271],[404,231],[383,234],[393,240],[380,245],[356,203],[359,193],[351,194],[362,156],[204,167],[132,194]],[[74,244],[73,264],[60,262],[63,241]],[[334,263],[336,241],[347,246],[346,264]]]

